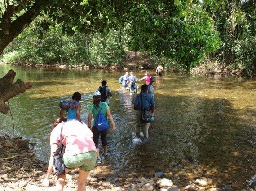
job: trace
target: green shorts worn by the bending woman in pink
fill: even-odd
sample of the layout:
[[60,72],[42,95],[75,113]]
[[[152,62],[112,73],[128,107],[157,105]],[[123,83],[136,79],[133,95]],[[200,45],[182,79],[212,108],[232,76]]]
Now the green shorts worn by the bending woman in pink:
[[89,151],[73,156],[63,156],[65,167],[69,170],[80,168],[83,171],[89,172],[93,170],[97,159],[96,151]]

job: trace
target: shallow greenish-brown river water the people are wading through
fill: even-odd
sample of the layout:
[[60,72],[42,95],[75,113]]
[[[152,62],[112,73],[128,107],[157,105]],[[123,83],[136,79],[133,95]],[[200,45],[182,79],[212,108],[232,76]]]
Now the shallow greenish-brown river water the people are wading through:
[[[110,155],[102,165],[115,170],[113,178],[149,178],[163,172],[163,178],[184,186],[203,178],[220,190],[256,187],[255,78],[168,72],[156,77],[155,121],[149,139],[142,141],[134,137],[135,95],[118,83],[124,71],[0,65],[0,78],[10,69],[17,73],[14,81],[20,78],[33,85],[9,100],[14,136],[35,142],[33,151],[43,161],[49,160],[49,135],[59,102],[82,93],[81,119],[87,124],[92,93],[106,80],[117,130],[109,128]],[[134,74],[142,78],[145,71]],[[10,112],[0,114],[0,133],[13,134]]]

